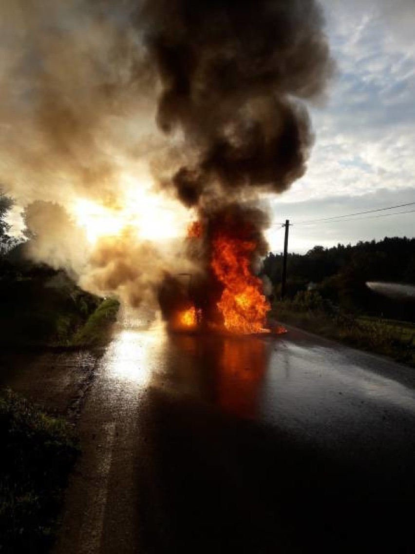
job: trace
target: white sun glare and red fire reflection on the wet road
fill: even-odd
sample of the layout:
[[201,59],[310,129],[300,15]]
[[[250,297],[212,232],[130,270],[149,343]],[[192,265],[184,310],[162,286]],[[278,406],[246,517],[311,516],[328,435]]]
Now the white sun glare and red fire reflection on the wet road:
[[168,334],[161,322],[123,312],[103,365],[124,388],[167,388],[255,418],[271,350],[268,337]]

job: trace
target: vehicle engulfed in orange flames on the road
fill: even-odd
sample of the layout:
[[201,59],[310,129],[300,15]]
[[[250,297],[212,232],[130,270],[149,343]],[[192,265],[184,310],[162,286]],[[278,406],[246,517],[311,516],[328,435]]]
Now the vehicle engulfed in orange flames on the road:
[[260,255],[266,253],[261,233],[266,222],[258,209],[228,204],[203,213],[190,225],[189,252],[199,259],[202,271],[198,275],[165,274],[158,299],[170,329],[270,332],[267,312],[271,305],[262,280],[255,275]]

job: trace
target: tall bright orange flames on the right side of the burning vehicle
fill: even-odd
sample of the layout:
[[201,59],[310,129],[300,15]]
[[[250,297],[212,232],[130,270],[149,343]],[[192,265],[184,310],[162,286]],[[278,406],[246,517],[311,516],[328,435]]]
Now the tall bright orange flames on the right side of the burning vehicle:
[[216,278],[225,286],[217,307],[226,329],[231,332],[267,332],[263,327],[271,306],[262,294],[261,279],[251,273],[255,250],[255,242],[221,233],[212,240],[211,266]]

